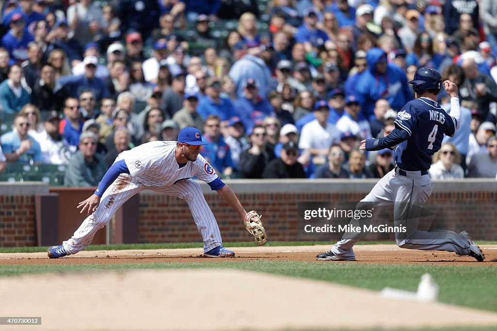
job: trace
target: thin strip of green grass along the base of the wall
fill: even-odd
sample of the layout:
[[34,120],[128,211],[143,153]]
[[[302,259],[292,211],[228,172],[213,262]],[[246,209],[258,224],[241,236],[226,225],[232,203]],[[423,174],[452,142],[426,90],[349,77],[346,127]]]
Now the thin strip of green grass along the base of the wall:
[[[312,246],[331,245],[330,241],[270,241],[265,246]],[[356,245],[395,244],[395,241],[360,241]],[[478,241],[479,245],[497,245],[497,241]],[[174,248],[202,248],[202,243],[160,243],[160,244],[115,244],[90,245],[85,251],[120,251],[120,250],[159,250]],[[253,247],[253,242],[225,242],[225,247]],[[48,246],[40,247],[0,247],[0,253],[37,253],[46,252]]]

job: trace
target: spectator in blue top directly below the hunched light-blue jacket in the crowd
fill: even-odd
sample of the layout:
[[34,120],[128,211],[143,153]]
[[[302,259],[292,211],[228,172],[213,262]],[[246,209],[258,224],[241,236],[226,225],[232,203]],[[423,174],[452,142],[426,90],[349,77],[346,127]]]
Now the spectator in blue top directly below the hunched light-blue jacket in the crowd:
[[248,78],[244,86],[244,96],[235,102],[235,109],[247,132],[251,132],[255,125],[262,124],[266,116],[273,115],[273,107],[269,101],[258,95],[257,80]]

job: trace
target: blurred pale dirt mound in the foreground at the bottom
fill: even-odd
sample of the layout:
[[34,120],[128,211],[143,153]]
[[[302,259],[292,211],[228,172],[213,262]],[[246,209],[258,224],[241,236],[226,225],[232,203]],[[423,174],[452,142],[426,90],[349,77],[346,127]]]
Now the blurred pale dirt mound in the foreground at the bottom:
[[[497,314],[378,292],[230,269],[133,270],[0,279],[3,316],[41,326],[2,330],[277,330],[497,325]],[[257,306],[257,316],[248,314]],[[415,318],[414,318],[415,317]]]

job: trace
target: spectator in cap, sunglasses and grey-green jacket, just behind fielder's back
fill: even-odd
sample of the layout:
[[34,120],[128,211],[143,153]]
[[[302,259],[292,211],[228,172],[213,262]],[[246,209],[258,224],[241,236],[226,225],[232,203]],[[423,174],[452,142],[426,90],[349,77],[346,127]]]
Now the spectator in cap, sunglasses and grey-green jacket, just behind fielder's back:
[[105,158],[96,154],[98,135],[86,131],[80,135],[79,150],[73,155],[66,168],[64,186],[98,186],[107,171]]

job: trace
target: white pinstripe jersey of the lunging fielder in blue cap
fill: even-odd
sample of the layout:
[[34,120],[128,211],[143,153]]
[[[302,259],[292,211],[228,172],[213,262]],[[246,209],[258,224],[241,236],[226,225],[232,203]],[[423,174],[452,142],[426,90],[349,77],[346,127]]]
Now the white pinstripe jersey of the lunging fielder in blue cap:
[[145,186],[171,186],[194,176],[206,183],[218,178],[214,168],[198,155],[180,168],[175,156],[176,141],[151,141],[119,154],[132,177]]

